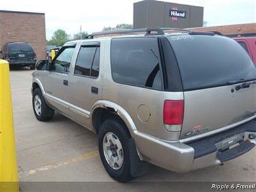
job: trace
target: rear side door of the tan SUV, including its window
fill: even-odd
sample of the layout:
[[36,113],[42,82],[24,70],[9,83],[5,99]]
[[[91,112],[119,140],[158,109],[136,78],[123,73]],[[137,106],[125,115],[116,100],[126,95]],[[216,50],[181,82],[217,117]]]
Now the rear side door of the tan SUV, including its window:
[[82,42],[69,79],[70,111],[72,118],[86,127],[90,127],[92,105],[102,97],[102,80],[99,76],[100,42]]

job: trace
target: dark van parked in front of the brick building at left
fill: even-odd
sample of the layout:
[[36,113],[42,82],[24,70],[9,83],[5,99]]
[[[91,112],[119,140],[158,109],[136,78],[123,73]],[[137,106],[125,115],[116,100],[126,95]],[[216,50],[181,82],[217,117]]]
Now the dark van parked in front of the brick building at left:
[[8,61],[10,66],[35,69],[36,53],[26,42],[10,42],[3,45],[1,59]]

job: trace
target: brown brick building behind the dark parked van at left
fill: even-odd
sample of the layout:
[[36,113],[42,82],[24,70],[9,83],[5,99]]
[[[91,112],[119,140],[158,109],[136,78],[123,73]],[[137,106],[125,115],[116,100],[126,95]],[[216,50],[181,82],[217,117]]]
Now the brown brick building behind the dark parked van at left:
[[44,13],[0,10],[0,46],[6,42],[28,42],[36,52],[37,60],[46,57]]

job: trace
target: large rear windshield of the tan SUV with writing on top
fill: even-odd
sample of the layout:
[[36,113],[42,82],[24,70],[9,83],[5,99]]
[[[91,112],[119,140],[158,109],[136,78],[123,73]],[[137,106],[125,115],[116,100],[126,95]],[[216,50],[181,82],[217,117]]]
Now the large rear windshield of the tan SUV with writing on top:
[[224,36],[168,36],[179,63],[184,90],[223,86],[256,79],[256,68],[244,49]]

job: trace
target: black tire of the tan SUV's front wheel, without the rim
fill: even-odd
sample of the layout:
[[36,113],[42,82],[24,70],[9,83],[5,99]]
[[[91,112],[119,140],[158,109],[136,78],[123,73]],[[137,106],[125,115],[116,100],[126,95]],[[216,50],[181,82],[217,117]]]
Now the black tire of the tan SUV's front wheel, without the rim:
[[[38,95],[38,97],[40,98],[40,100],[42,102],[40,115],[38,115],[35,111],[34,99],[35,99],[36,95]],[[40,122],[47,122],[52,119],[52,117],[54,115],[54,109],[51,109],[51,108],[49,108],[49,106],[47,106],[40,88],[36,88],[33,91],[32,104],[33,104],[33,111],[35,113],[37,120],[39,120]]]

